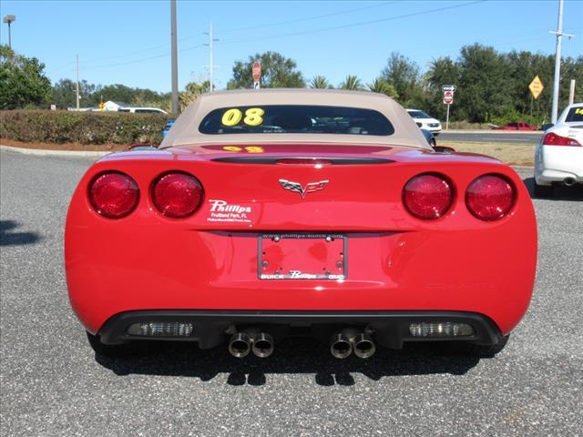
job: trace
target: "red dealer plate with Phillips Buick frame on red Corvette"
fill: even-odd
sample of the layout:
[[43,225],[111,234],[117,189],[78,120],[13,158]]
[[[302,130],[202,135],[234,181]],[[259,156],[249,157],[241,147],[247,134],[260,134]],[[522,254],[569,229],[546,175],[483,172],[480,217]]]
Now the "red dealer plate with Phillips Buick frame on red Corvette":
[[259,279],[346,279],[347,244],[341,234],[262,234]]

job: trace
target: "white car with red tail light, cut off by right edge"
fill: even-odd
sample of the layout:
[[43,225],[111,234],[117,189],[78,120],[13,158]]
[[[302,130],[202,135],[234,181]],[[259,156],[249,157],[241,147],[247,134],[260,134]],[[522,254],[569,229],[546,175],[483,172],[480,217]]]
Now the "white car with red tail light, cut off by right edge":
[[549,125],[535,152],[535,196],[548,198],[554,186],[583,183],[583,103],[569,105]]

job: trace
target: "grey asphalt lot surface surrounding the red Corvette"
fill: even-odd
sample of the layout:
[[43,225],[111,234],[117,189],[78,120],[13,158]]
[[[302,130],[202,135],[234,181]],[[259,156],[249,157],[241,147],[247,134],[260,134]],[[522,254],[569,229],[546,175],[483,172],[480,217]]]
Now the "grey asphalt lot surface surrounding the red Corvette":
[[496,358],[417,344],[335,361],[286,340],[264,361],[189,344],[114,360],[89,348],[66,295],[66,208],[90,162],[0,152],[1,435],[583,435],[580,190],[534,200],[537,286]]

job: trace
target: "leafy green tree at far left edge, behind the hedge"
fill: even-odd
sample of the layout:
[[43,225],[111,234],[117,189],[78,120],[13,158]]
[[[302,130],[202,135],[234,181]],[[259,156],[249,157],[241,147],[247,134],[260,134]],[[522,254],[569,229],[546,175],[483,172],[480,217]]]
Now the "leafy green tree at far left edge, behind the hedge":
[[8,46],[0,46],[0,108],[15,109],[46,103],[51,82],[36,57],[16,55]]

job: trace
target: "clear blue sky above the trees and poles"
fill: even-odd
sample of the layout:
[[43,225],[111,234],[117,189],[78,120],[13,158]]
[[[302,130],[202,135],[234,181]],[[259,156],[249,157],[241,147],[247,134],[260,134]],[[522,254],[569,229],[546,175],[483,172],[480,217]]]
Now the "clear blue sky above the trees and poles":
[[[12,43],[36,56],[53,82],[80,75],[90,83],[170,90],[170,2],[2,0],[16,15]],[[226,86],[236,60],[266,50],[291,57],[302,74],[337,85],[348,74],[371,82],[398,51],[426,70],[481,43],[501,52],[554,54],[558,0],[535,1],[178,1],[179,86],[208,76],[208,31],[215,37],[215,83]],[[566,0],[563,56],[583,55],[583,1]],[[1,40],[8,41],[2,24]],[[533,74],[534,76],[534,74]],[[530,81],[532,77],[525,78]]]

